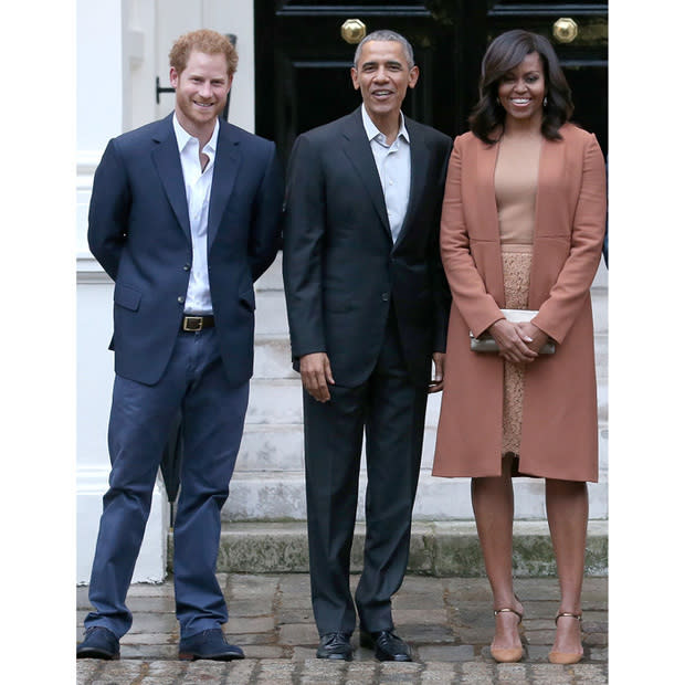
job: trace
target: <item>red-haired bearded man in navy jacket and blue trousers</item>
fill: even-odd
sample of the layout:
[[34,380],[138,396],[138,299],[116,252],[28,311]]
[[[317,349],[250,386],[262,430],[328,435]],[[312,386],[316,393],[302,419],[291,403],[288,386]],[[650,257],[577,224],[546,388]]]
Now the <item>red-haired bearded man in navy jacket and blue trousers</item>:
[[77,656],[116,658],[125,599],[164,446],[183,418],[173,526],[179,657],[242,658],[226,643],[215,578],[252,376],[253,282],[280,241],[283,180],[273,143],[222,120],[238,55],[214,31],[170,54],[173,114],[109,141],[95,172],[88,242],[115,282],[109,489]]

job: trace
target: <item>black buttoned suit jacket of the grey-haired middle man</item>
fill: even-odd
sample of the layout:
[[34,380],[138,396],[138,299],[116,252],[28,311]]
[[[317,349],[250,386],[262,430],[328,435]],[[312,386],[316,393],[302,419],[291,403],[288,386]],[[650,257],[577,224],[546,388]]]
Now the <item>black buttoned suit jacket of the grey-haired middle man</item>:
[[283,273],[295,368],[328,354],[336,384],[371,373],[397,314],[408,371],[428,387],[444,351],[450,307],[440,214],[452,140],[404,118],[411,146],[407,217],[392,243],[361,108],[295,141],[286,182]]

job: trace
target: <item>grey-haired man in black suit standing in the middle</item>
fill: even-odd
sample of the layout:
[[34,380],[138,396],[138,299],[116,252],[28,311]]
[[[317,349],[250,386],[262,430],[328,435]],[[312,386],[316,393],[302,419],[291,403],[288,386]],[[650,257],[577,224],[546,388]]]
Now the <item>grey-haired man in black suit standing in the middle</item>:
[[[418,77],[404,38],[368,35],[351,68],[362,106],[299,136],[288,167],[283,271],[304,386],[319,658],[351,658],[356,605],[361,644],[380,660],[411,661],[393,632],[391,596],[407,570],[426,397],[442,389],[450,301],[439,225],[451,140],[402,115]],[[365,430],[367,534],[352,600]]]

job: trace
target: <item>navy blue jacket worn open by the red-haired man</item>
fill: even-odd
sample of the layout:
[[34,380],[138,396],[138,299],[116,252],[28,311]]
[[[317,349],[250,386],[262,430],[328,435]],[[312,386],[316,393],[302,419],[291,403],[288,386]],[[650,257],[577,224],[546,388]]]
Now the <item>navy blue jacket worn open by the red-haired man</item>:
[[[254,281],[281,240],[275,145],[220,120],[208,225],[209,281],[231,386],[252,376]],[[115,282],[117,375],[154,384],[183,316],[192,246],[172,115],[114,138],[95,172],[88,244]]]

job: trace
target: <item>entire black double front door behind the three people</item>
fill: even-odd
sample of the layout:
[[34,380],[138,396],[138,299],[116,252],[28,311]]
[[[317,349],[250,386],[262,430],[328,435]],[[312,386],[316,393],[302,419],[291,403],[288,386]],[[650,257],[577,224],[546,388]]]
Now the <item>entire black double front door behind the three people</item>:
[[[467,129],[487,43],[515,28],[546,35],[573,91],[573,118],[607,152],[605,2],[255,0],[254,8],[256,133],[276,141],[284,161],[299,133],[361,102],[349,75],[356,45],[341,36],[354,19],[367,33],[391,29],[410,41],[420,77],[403,112],[449,136]],[[577,27],[572,41],[562,42],[570,25],[562,19]]]

